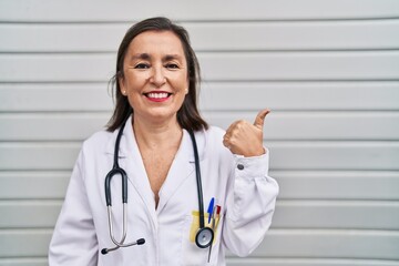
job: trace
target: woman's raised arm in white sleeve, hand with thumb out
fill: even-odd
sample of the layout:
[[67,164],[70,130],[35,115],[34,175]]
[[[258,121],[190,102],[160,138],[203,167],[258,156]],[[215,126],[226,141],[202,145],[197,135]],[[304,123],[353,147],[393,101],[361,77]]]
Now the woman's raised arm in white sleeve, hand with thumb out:
[[272,224],[278,185],[268,176],[268,151],[263,146],[263,125],[269,110],[263,110],[250,124],[233,123],[223,144],[235,157],[223,227],[226,247],[238,256],[249,255]]

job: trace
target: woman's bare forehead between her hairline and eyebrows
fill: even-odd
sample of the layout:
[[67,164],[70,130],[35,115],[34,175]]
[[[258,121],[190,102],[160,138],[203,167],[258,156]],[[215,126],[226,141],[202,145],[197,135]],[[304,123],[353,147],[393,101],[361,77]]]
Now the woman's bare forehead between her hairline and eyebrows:
[[172,31],[145,31],[129,45],[129,53],[177,54],[184,57],[182,41]]

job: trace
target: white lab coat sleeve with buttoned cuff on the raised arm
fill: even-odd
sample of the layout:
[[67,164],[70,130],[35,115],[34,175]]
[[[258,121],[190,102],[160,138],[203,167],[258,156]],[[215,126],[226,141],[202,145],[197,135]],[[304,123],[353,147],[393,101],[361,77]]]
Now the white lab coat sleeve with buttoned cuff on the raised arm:
[[278,184],[268,176],[268,155],[266,150],[262,156],[234,156],[223,243],[237,256],[249,255],[272,224]]

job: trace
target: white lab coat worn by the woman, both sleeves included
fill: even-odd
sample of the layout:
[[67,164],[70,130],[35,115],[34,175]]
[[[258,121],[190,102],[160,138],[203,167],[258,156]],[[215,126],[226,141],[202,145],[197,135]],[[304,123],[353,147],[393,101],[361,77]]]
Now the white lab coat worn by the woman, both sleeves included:
[[[277,183],[268,176],[268,152],[250,158],[234,156],[223,146],[223,130],[211,126],[195,133],[204,211],[206,213],[212,197],[222,207],[208,264],[209,249],[198,248],[191,241],[198,223],[194,215],[198,197],[188,133],[184,131],[155,208],[154,194],[129,120],[119,152],[119,164],[129,176],[125,242],[145,238],[145,244],[102,255],[102,248],[114,246],[109,235],[104,178],[113,165],[116,134],[117,131],[102,131],[84,142],[50,244],[50,266],[219,266],[225,265],[226,248],[246,256],[260,244],[272,223],[278,193]],[[120,180],[115,176],[111,183],[116,239],[122,232]]]

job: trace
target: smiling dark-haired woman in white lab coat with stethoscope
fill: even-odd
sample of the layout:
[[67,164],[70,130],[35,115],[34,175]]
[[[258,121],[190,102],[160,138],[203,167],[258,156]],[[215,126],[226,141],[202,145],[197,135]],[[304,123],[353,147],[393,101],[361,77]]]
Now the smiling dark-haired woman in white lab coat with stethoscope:
[[[198,79],[183,28],[153,18],[127,31],[117,53],[116,106],[108,131],[80,152],[50,265],[225,265],[226,248],[246,256],[260,244],[278,193],[263,146],[269,111],[226,132],[208,126],[196,106]],[[115,154],[129,178],[129,204],[124,237],[116,175],[110,182],[114,239],[142,245],[113,248],[110,237],[104,180]]]

